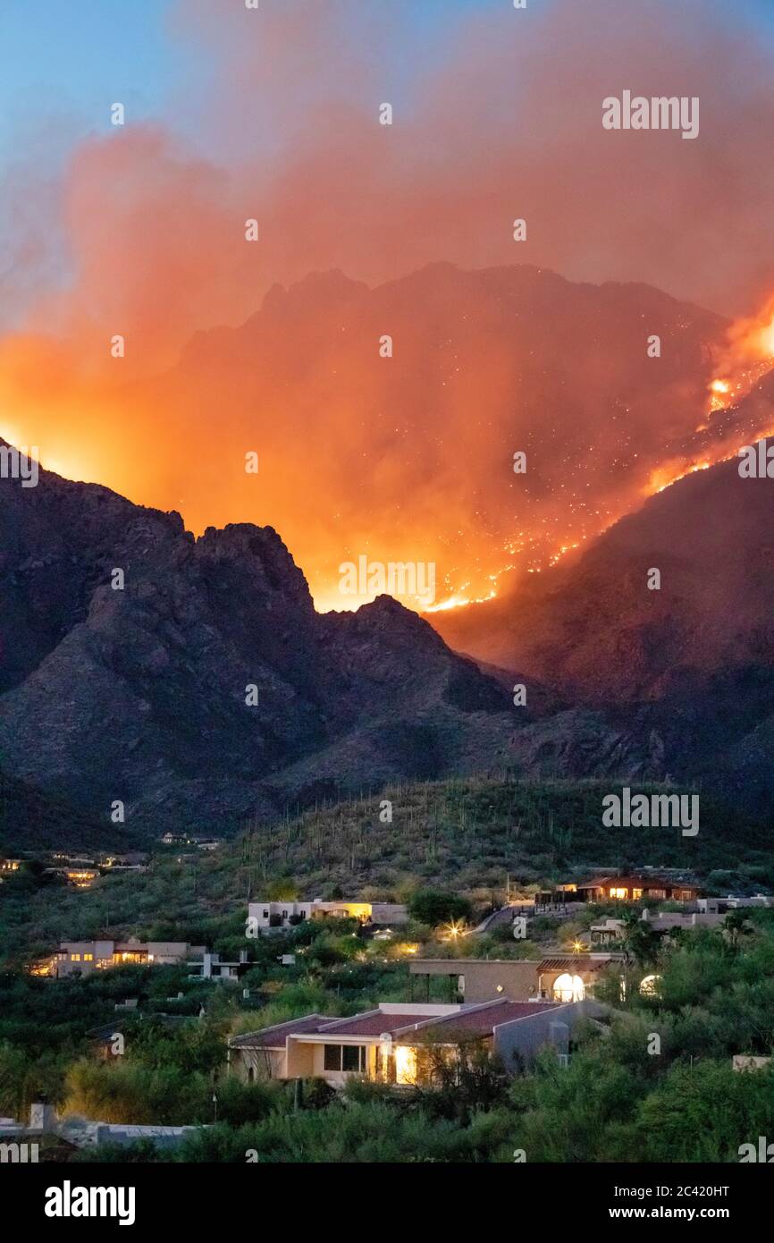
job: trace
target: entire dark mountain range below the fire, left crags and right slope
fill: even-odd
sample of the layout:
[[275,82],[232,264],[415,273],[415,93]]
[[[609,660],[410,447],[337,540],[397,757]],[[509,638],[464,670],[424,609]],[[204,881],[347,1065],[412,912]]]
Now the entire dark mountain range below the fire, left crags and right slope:
[[666,488],[499,612],[461,612],[498,620],[485,670],[389,597],[316,613],[271,527],[195,539],[104,487],[0,480],[0,772],[111,839],[117,800],[132,833],[229,833],[389,781],[503,771],[701,779],[767,810],[773,498],[735,461]]

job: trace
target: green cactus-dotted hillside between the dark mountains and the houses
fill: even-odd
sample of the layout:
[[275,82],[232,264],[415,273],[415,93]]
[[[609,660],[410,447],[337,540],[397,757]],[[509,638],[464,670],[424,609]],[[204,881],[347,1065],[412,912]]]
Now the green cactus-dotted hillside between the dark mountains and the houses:
[[[441,886],[481,905],[502,902],[507,881],[518,891],[649,864],[694,870],[718,891],[774,884],[764,824],[732,818],[702,796],[696,838],[680,829],[605,828],[608,792],[595,782],[401,784],[281,822],[253,822],[212,854],[159,846],[150,871],[108,875],[88,891],[20,875],[0,886],[0,946],[6,960],[97,932],[217,946],[221,937],[244,936],[251,897],[283,884],[311,897],[384,900]],[[381,823],[385,804],[391,822]]]

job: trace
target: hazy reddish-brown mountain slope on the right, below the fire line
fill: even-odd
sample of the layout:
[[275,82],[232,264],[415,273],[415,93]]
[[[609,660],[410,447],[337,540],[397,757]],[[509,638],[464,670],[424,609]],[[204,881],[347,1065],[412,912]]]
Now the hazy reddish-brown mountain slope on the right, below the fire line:
[[[772,400],[770,378],[764,390]],[[774,480],[742,479],[738,465],[687,475],[574,561],[437,624],[576,710],[625,718],[665,774],[768,812]],[[653,568],[660,590],[647,588]]]

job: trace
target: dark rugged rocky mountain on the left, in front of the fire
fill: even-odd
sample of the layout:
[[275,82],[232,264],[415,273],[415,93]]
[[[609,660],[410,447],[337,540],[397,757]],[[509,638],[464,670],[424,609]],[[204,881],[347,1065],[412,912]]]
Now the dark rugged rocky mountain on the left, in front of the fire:
[[0,768],[106,823],[222,830],[507,746],[501,685],[389,598],[317,614],[270,527],[194,539],[45,471],[0,480]]

